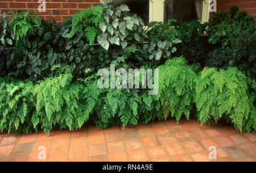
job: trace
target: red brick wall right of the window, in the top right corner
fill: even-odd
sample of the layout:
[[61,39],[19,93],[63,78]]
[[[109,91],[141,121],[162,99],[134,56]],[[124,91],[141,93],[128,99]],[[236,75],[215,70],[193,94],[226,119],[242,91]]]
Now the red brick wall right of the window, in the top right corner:
[[[233,6],[239,7],[240,11],[245,11],[256,20],[256,0],[217,0],[217,12],[229,11]],[[215,12],[210,12],[210,18],[214,14]]]

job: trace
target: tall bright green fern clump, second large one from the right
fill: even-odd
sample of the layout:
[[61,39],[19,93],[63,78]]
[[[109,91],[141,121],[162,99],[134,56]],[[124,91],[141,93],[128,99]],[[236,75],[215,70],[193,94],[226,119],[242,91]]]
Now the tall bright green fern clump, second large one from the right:
[[159,93],[156,100],[161,105],[161,119],[168,116],[180,120],[181,115],[189,118],[193,103],[193,80],[196,77],[192,66],[187,65],[184,58],[167,60],[159,66]]

